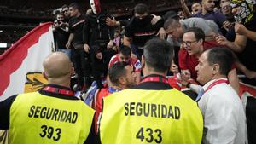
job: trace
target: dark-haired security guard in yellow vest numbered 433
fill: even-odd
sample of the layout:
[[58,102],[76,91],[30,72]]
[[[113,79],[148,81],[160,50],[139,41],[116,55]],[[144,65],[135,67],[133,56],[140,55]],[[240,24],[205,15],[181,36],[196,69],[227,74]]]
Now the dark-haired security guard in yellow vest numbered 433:
[[172,45],[152,39],[144,47],[142,83],[103,101],[102,144],[200,144],[203,119],[196,102],[167,82]]

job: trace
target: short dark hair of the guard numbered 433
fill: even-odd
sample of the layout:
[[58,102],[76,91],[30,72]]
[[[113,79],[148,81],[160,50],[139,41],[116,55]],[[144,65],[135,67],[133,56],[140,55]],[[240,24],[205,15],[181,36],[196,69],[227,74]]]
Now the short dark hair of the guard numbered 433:
[[166,72],[172,64],[174,49],[166,40],[151,39],[144,46],[144,58],[156,72]]

